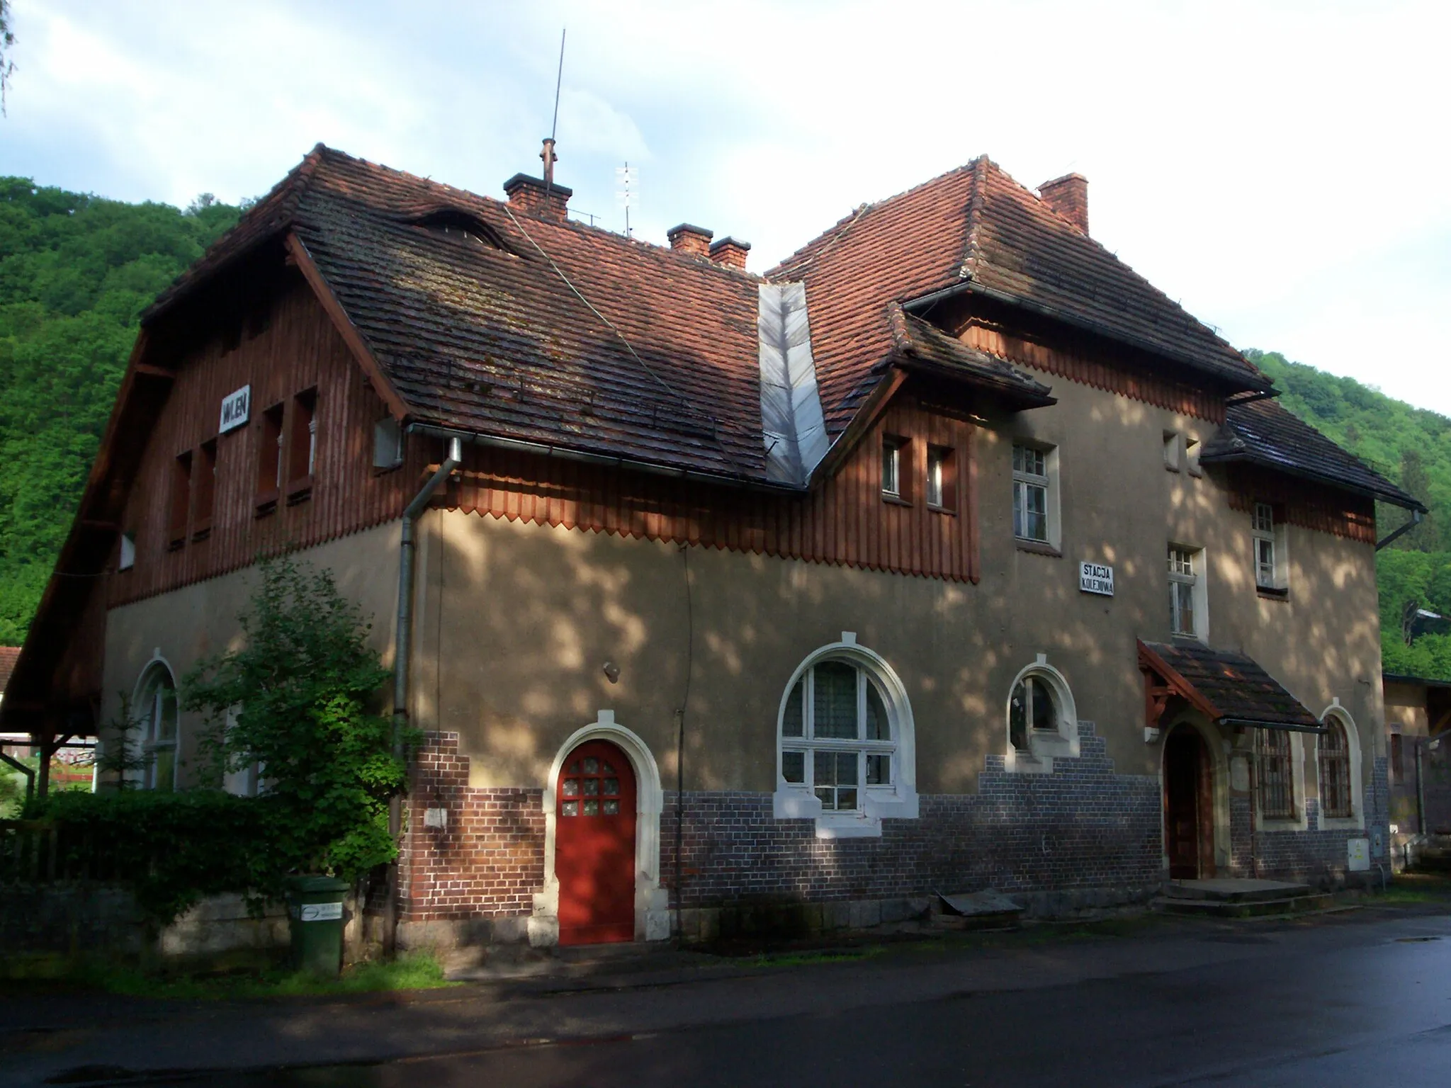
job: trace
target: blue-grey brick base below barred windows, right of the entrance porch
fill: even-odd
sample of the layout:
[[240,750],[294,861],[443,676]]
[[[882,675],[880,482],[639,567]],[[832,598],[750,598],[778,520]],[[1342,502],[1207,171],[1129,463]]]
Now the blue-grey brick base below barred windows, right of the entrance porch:
[[[1339,883],[1347,876],[1347,846],[1348,838],[1374,838],[1380,830],[1381,843],[1389,843],[1390,823],[1390,782],[1387,779],[1387,765],[1384,756],[1377,756],[1371,766],[1370,788],[1364,796],[1365,830],[1332,830],[1319,831],[1319,802],[1304,801],[1306,824],[1304,831],[1258,831],[1254,836],[1254,850],[1251,852],[1251,812],[1249,796],[1238,795],[1229,802],[1229,838],[1232,866],[1236,876],[1255,876],[1254,862],[1258,859],[1258,876],[1280,878],[1290,881],[1307,881],[1312,883]],[[1371,866],[1380,862],[1387,865],[1383,853],[1380,857],[1371,856]]]

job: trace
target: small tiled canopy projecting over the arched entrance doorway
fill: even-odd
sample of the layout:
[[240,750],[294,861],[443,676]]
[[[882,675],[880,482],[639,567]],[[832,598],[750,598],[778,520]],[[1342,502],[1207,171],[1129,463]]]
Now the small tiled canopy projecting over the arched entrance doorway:
[[1145,679],[1145,721],[1158,727],[1172,696],[1219,725],[1325,733],[1303,702],[1245,654],[1200,643],[1139,641]]

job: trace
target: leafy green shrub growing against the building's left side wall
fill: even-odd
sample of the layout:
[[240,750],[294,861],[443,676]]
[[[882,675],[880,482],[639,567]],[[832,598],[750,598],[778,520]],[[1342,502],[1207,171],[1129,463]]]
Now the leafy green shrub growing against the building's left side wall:
[[181,680],[183,706],[210,725],[218,773],[257,765],[266,811],[264,892],[287,873],[355,881],[393,860],[387,802],[403,789],[392,722],[370,706],[390,673],[369,624],[332,574],[292,559],[260,567],[242,644]]

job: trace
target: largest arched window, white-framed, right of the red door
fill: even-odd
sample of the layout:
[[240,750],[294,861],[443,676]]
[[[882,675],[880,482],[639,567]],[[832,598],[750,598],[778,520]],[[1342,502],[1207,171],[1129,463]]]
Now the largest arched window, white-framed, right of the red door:
[[917,815],[907,693],[849,634],[802,662],[778,718],[775,814],[814,817],[823,837],[881,834],[881,817]]

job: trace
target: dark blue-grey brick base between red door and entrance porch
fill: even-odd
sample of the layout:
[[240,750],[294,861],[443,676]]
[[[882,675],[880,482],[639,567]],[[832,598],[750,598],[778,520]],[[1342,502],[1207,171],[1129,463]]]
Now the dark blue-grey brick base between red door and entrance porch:
[[[884,820],[881,838],[817,838],[811,820],[775,820],[769,794],[686,792],[679,905],[1156,885],[1158,778],[1114,773],[1091,722],[1080,722],[1078,735],[1081,754],[1055,757],[1051,775],[1008,773],[1001,756],[990,756],[977,794],[924,795],[920,817]],[[675,878],[675,841],[667,792],[666,883]]]

